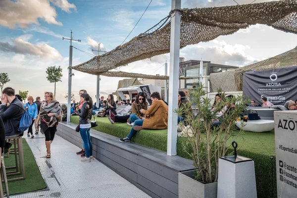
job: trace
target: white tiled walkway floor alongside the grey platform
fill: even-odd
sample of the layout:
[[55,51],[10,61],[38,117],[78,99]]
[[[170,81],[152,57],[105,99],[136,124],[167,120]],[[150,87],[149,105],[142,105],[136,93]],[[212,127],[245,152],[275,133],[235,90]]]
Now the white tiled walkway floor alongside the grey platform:
[[59,136],[51,145],[51,158],[45,158],[44,135],[26,138],[49,190],[13,198],[149,198],[98,160],[81,162],[80,148]]

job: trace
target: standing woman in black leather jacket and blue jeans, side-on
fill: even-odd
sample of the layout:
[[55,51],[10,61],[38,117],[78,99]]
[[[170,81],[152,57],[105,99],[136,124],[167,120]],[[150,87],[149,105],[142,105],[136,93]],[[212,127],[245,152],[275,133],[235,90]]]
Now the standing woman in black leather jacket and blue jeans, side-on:
[[86,156],[81,160],[82,162],[91,162],[93,157],[93,145],[91,142],[90,129],[93,101],[89,94],[82,94],[80,101],[83,102],[81,109],[78,110],[80,128],[79,132],[84,142],[84,148],[86,150]]

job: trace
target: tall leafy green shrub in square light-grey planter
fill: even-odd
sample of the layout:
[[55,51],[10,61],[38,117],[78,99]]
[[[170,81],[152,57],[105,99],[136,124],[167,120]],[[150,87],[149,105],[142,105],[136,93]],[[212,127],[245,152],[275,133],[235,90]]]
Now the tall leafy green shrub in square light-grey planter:
[[[198,86],[190,91],[190,102],[175,110],[178,115],[187,115],[184,124],[191,126],[194,135],[186,135],[183,146],[197,168],[179,173],[179,198],[216,198],[219,158],[232,154],[227,141],[231,137],[236,139],[241,133],[235,121],[245,110],[247,101],[239,96],[226,96],[220,89],[217,92],[222,100],[213,105],[210,99],[204,98],[207,92]],[[192,106],[197,115],[193,114]],[[219,117],[221,112],[224,114]],[[220,121],[220,125],[214,127],[214,121]]]

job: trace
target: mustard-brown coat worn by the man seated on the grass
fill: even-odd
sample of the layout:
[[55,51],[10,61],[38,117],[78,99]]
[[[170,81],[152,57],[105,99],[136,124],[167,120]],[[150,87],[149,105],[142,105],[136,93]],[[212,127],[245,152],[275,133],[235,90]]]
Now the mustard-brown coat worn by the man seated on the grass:
[[143,128],[146,129],[167,129],[168,127],[168,106],[163,100],[154,100],[148,110],[143,111],[149,115],[144,120]]

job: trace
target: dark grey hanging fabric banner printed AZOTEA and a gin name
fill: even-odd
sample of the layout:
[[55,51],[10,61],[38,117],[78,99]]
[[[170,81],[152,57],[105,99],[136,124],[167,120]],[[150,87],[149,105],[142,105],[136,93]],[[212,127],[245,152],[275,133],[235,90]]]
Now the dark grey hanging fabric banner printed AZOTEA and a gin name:
[[297,99],[297,66],[249,71],[244,73],[244,96],[262,104],[261,98],[274,105]]

